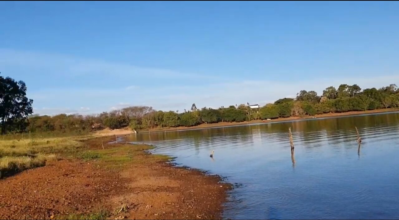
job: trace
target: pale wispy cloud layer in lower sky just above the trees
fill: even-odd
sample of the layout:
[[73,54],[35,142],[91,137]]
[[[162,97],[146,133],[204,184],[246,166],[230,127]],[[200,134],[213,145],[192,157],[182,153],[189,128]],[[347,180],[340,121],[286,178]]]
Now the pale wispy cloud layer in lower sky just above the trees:
[[[294,98],[303,89],[322,94],[324,88],[338,87],[342,83],[358,84],[361,88],[399,84],[396,72],[340,78],[330,74],[329,78],[320,76],[296,81],[251,79],[248,75],[245,77],[251,80],[221,79],[212,75],[6,49],[0,49],[0,67],[7,75],[14,73],[13,78],[27,79],[27,84],[29,81],[28,97],[34,99],[35,113],[39,114],[89,114],[130,105],[179,111],[189,109],[193,103],[199,108],[247,102],[263,105],[279,98]],[[136,82],[140,82],[140,87]]]

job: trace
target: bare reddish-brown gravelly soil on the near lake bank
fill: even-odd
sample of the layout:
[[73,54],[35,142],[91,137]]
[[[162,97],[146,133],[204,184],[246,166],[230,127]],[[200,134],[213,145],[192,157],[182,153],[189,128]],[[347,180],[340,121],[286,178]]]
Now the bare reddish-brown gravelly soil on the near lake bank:
[[[87,143],[93,151],[103,150],[99,139]],[[115,146],[105,144],[103,151]],[[63,159],[0,180],[0,219],[51,219],[99,210],[111,212],[111,219],[221,217],[230,185],[219,177],[172,167],[140,145],[125,148],[136,150],[128,163],[115,164],[119,168],[101,160]],[[117,151],[112,158],[123,154]]]

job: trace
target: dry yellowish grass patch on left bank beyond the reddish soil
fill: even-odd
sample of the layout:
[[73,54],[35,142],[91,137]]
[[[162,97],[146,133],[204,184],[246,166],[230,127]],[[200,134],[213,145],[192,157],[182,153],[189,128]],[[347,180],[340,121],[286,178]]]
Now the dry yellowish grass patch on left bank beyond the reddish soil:
[[75,153],[83,147],[83,140],[91,138],[31,138],[0,140],[0,178],[26,169],[40,167],[56,160],[61,153]]

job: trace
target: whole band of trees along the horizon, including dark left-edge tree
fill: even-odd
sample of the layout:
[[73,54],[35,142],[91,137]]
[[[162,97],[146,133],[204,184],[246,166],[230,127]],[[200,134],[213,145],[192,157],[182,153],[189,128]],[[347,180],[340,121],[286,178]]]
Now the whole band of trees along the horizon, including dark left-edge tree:
[[218,109],[156,111],[150,106],[130,106],[111,112],[82,116],[32,115],[33,100],[26,98],[26,85],[9,77],[0,77],[0,122],[2,134],[10,132],[88,132],[101,128],[147,130],[150,128],[191,127],[218,122],[244,122],[316,114],[375,110],[399,107],[399,89],[395,84],[382,88],[361,89],[358,85],[341,84],[327,87],[319,96],[315,91],[301,90],[296,98],[281,98],[261,108],[249,103],[221,106]]

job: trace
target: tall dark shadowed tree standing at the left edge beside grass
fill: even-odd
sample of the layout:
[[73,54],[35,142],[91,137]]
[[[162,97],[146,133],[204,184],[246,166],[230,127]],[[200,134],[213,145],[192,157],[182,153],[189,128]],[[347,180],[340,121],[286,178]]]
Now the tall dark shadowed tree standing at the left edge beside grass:
[[32,99],[26,97],[26,84],[10,77],[0,76],[0,123],[1,133],[8,126],[23,126],[28,115],[33,113]]

